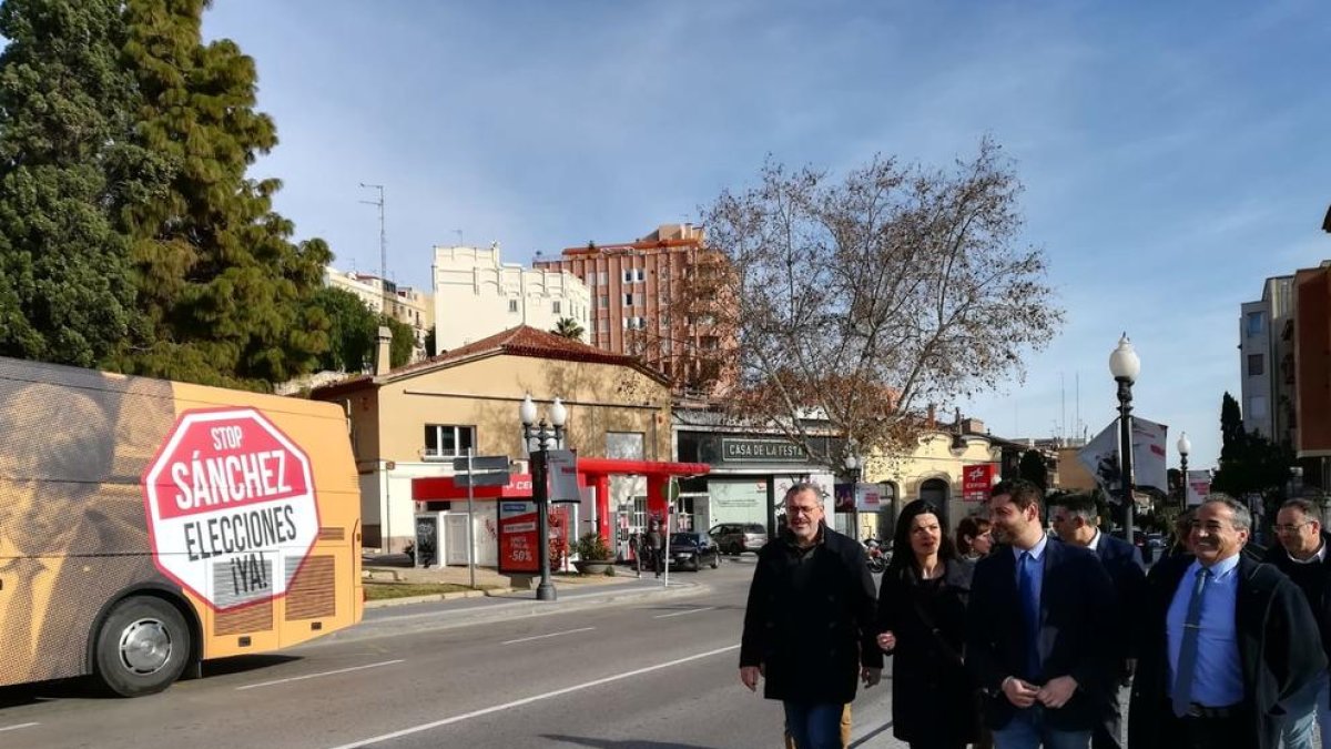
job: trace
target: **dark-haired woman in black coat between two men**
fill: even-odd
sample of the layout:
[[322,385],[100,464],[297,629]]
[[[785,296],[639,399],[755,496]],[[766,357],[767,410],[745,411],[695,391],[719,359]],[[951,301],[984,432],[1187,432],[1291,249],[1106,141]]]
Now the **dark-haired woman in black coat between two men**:
[[912,749],[961,749],[978,736],[961,661],[974,565],[957,556],[941,517],[924,500],[901,510],[878,590],[878,646],[894,661],[892,734]]

